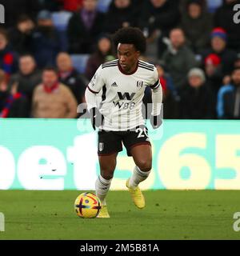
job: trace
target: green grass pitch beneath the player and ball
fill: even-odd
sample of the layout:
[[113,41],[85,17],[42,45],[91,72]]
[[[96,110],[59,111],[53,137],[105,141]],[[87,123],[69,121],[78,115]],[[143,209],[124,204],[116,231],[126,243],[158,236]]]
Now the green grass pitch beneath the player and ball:
[[80,191],[0,190],[1,239],[239,239],[240,191],[145,191],[138,210],[127,191],[110,191],[109,219],[78,218]]

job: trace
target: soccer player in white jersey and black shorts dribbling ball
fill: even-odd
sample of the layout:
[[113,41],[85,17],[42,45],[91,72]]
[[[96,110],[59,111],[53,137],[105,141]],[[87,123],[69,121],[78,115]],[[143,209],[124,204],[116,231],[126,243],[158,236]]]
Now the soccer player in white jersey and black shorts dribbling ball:
[[[102,203],[99,218],[110,218],[106,194],[114,177],[116,159],[122,143],[136,166],[126,181],[134,204],[142,209],[145,199],[138,184],[149,176],[152,166],[150,139],[142,116],[142,98],[146,86],[152,89],[150,123],[161,126],[162,86],[158,71],[139,60],[146,50],[146,38],[138,28],[127,27],[114,34],[118,59],[99,66],[86,88],[86,103],[94,130],[98,130],[98,159],[101,173],[95,184]],[[100,94],[100,95],[99,95]]]

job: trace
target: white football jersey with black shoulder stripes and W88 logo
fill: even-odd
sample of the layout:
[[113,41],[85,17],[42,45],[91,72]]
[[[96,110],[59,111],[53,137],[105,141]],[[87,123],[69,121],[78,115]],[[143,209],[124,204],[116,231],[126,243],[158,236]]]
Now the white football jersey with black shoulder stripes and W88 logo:
[[138,61],[131,74],[123,72],[118,59],[99,66],[88,89],[99,94],[98,107],[104,116],[103,130],[130,130],[144,125],[142,98],[146,86],[160,86],[158,71],[154,65]]

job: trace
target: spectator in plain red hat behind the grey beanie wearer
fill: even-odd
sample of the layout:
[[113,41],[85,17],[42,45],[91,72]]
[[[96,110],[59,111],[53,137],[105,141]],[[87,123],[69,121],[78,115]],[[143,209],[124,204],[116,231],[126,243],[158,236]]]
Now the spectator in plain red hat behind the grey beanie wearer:
[[210,54],[205,59],[206,83],[210,86],[214,93],[214,98],[217,97],[218,90],[222,86],[222,65],[221,59],[217,54]]

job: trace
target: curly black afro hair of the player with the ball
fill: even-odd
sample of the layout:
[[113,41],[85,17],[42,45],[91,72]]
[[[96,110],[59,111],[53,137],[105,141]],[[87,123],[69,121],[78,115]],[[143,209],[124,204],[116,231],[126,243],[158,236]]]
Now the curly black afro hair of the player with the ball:
[[133,44],[136,50],[141,54],[146,51],[146,38],[142,31],[137,27],[124,27],[119,29],[113,35],[114,45],[118,47],[118,43]]

